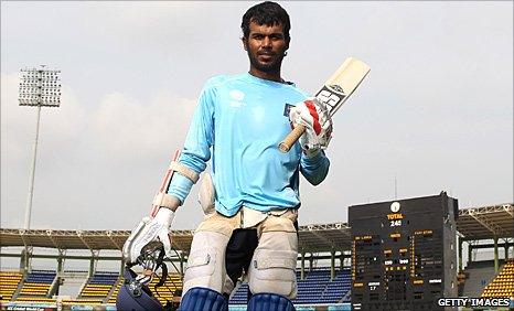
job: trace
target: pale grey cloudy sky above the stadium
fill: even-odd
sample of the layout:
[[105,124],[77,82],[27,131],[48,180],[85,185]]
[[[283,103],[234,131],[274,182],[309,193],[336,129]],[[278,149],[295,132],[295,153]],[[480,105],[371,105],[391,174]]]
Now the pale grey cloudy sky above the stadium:
[[[21,68],[60,69],[63,93],[42,109],[31,228],[131,229],[205,81],[248,71],[239,25],[254,3],[2,1],[1,227],[23,227],[29,193],[36,110],[18,105]],[[395,193],[514,201],[512,1],[280,3],[283,77],[314,93],[347,56],[372,68],[333,118],[326,180],[301,181],[300,225]],[[203,219],[196,195],[174,228]]]

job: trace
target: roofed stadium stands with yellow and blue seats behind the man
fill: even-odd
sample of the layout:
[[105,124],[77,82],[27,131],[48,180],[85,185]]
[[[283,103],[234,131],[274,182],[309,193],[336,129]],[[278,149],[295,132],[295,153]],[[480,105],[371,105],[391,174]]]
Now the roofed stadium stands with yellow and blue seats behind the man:
[[[483,294],[484,297],[493,297],[495,294],[514,294],[514,283],[512,282],[514,278],[514,260],[507,260],[505,267],[502,268],[502,259],[497,255],[499,248],[505,249],[504,254],[512,254],[510,249],[514,246],[513,215],[514,205],[512,203],[459,211],[457,221],[459,238],[458,244],[456,244],[459,250],[459,282],[463,282],[464,286],[488,283],[489,278],[480,277],[480,274],[473,274],[472,270],[480,268],[483,264],[472,262],[471,254],[472,251],[486,248],[494,249],[493,260],[486,264],[486,269],[490,270],[486,275],[491,276],[491,285],[483,292],[479,288],[475,294],[468,296],[464,293],[462,296],[479,297]],[[298,260],[303,272],[297,272],[298,298],[295,303],[299,308],[315,305],[314,309],[321,308],[320,310],[326,310],[328,305],[330,308],[349,308],[351,272],[349,268],[342,268],[345,266],[343,265],[345,260],[349,264],[352,249],[352,236],[347,224],[306,225],[300,226],[298,234]],[[0,283],[2,285],[0,287],[0,296],[2,296],[0,302],[2,308],[4,305],[17,308],[19,305],[26,305],[28,303],[25,302],[29,302],[30,308],[34,305],[47,308],[50,304],[58,305],[62,303],[63,305],[82,305],[79,308],[93,305],[95,310],[106,310],[106,308],[113,310],[117,292],[124,280],[119,276],[119,272],[96,272],[96,265],[94,262],[98,262],[99,260],[115,260],[119,262],[121,259],[119,254],[115,256],[100,256],[99,253],[100,250],[119,251],[129,235],[129,230],[23,230],[0,228],[0,247],[2,250],[0,257],[19,258],[20,267],[24,267],[17,272],[3,271],[0,274]],[[183,274],[184,265],[186,265],[185,255],[189,254],[191,247],[193,230],[173,230],[172,235],[173,248],[178,253],[171,260],[180,268],[178,269],[178,274],[171,275],[173,281],[169,280],[165,286],[158,290],[160,297],[159,294],[156,296],[161,302],[170,299],[176,302],[180,299],[182,288],[180,274]],[[484,243],[494,240],[494,244],[482,245],[478,243],[479,240],[483,240]],[[468,260],[464,260],[465,255],[462,255],[464,244],[468,245]],[[20,248],[24,248],[25,250],[21,251],[19,250]],[[53,248],[56,254],[38,254],[40,248]],[[85,253],[87,251],[90,255],[69,255],[66,254],[67,250],[85,250]],[[66,282],[71,278],[62,270],[64,269],[64,264],[62,265],[62,262],[67,258],[89,262],[88,271],[83,271],[82,276],[75,274],[77,275],[73,282],[75,287],[66,287]],[[56,260],[58,271],[31,271],[32,262],[39,259]],[[317,260],[325,260],[324,262],[328,262],[328,265],[318,265],[315,264],[319,262]],[[461,267],[465,261],[468,267],[465,270],[462,270]],[[309,267],[306,264],[309,264]],[[320,266],[325,267],[320,268]],[[2,269],[4,268],[2,267]],[[31,272],[25,276],[24,271],[26,270]],[[57,282],[56,275],[66,281]],[[93,277],[86,281],[87,275],[92,275]],[[304,276],[303,279],[300,278],[301,275]],[[474,281],[473,275],[476,276]],[[482,282],[482,280],[484,281]],[[84,283],[83,288],[81,288],[82,283]],[[60,285],[62,286],[61,296],[51,297],[54,292],[57,292]],[[153,285],[150,287],[153,289]],[[76,297],[73,294],[69,296],[72,288],[76,288],[75,292],[78,293]],[[231,305],[239,308],[237,304],[245,304],[247,301],[247,290],[248,286],[245,283],[242,285],[233,294]]]

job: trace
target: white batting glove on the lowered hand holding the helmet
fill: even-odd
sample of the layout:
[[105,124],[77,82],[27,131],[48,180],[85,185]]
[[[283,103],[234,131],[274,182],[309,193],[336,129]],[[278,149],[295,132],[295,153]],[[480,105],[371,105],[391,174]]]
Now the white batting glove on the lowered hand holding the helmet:
[[171,224],[175,213],[170,208],[161,207],[153,218],[143,217],[132,230],[124,245],[124,258],[126,262],[135,264],[141,254],[141,249],[152,242],[161,242],[164,253],[171,256]]

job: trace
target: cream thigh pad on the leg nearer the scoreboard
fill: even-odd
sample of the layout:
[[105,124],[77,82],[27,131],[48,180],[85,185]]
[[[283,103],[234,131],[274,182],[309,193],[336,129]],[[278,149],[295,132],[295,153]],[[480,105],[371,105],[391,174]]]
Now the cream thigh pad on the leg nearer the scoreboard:
[[265,232],[248,269],[248,286],[255,293],[297,296],[298,237],[296,233]]

